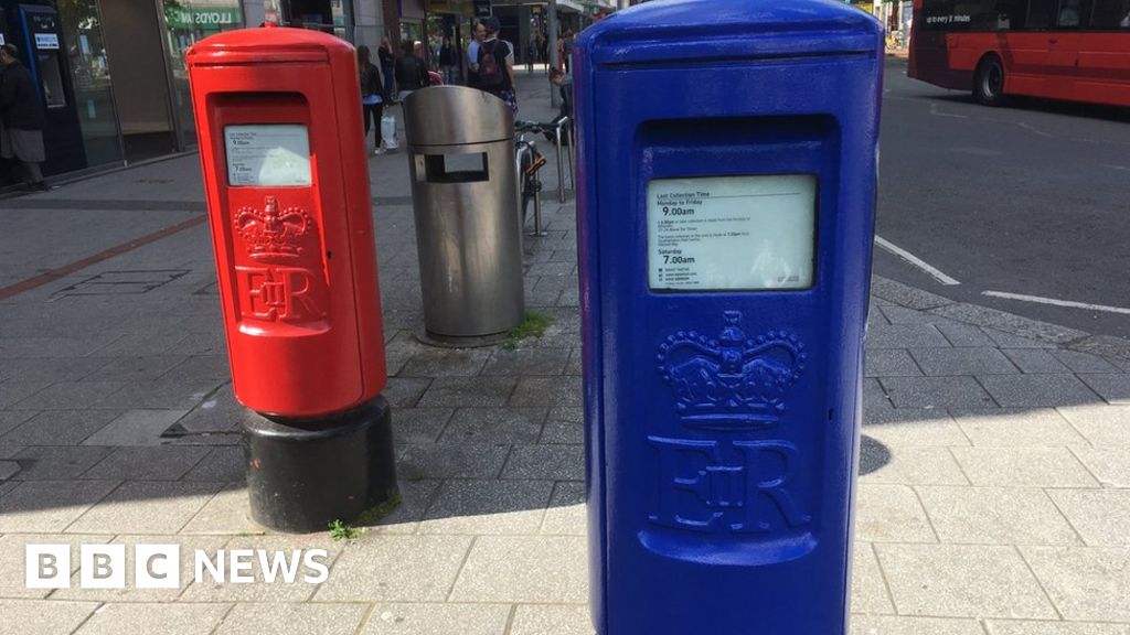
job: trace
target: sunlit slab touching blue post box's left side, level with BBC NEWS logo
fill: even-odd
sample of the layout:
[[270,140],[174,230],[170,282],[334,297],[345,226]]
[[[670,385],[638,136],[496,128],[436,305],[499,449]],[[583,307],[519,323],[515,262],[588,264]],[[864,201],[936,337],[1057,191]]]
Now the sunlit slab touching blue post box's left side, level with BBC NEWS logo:
[[589,599],[588,562],[582,537],[479,537],[450,600],[583,603]]

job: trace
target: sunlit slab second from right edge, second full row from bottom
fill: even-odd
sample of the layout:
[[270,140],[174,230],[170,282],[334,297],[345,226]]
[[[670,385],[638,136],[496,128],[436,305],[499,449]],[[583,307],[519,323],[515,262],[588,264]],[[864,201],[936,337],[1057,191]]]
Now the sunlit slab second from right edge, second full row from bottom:
[[[938,538],[966,545],[1079,545],[1071,524],[1043,489],[915,488]],[[1059,490],[1050,490],[1054,495]]]

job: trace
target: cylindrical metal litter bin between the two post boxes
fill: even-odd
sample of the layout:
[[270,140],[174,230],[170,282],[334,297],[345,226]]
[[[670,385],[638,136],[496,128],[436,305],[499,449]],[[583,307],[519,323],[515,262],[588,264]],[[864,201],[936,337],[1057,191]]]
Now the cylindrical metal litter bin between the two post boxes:
[[425,329],[489,342],[525,315],[513,114],[463,86],[415,92],[403,111]]

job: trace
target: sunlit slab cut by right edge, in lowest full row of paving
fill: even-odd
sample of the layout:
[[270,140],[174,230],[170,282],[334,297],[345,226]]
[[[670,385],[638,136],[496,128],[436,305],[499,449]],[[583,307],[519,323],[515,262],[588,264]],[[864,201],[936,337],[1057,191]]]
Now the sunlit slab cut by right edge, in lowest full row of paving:
[[1063,619],[1130,623],[1130,549],[1019,549]]

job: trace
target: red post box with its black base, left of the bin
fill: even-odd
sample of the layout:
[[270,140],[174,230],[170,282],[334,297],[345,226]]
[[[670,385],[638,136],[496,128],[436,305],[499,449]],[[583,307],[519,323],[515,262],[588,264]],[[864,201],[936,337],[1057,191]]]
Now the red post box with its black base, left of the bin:
[[186,62],[252,512],[324,529],[395,487],[356,53],[268,27]]

